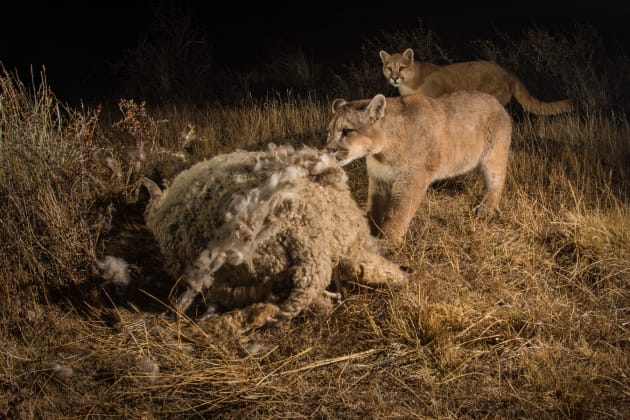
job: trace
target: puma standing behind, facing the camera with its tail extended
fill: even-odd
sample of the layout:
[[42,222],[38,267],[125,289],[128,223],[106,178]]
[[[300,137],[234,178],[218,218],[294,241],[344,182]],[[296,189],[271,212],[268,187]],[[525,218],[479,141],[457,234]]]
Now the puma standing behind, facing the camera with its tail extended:
[[570,99],[543,102],[532,95],[511,71],[491,61],[466,61],[438,66],[414,61],[413,50],[379,52],[383,75],[401,95],[421,93],[432,98],[458,90],[477,90],[494,95],[505,106],[513,97],[527,112],[554,115],[570,111]]

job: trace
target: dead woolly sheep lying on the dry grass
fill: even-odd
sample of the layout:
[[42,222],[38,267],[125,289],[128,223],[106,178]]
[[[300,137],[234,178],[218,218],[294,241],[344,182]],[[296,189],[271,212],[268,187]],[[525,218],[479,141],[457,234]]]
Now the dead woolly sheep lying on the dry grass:
[[166,269],[187,286],[177,309],[201,295],[206,330],[242,333],[290,320],[330,302],[337,272],[370,285],[406,281],[380,254],[346,173],[325,152],[236,151],[195,164],[164,191],[144,184],[147,227]]

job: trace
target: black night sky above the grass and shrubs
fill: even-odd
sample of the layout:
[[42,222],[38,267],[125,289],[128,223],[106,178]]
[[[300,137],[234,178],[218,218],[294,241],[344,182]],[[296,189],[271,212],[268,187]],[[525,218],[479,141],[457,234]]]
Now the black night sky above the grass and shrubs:
[[[495,29],[520,33],[539,25],[590,22],[600,32],[630,45],[628,1],[540,1],[518,3],[464,1],[455,13],[452,2],[433,0],[363,2],[272,2],[259,0],[178,2],[188,4],[209,35],[215,62],[247,62],[285,42],[299,45],[322,60],[342,60],[358,52],[366,37],[398,27],[415,27],[419,19],[444,42],[467,42],[492,36]],[[150,2],[82,2],[3,6],[0,19],[0,62],[17,68],[21,78],[29,65],[46,65],[53,90],[98,84],[99,72],[122,49],[137,44],[149,24]],[[524,6],[526,4],[527,6]],[[473,9],[475,5],[475,9]]]

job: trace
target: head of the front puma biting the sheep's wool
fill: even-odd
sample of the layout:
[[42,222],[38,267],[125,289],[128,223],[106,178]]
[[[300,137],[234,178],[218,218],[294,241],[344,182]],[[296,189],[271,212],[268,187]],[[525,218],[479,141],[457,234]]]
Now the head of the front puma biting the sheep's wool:
[[380,93],[371,100],[333,101],[326,149],[335,153],[341,166],[383,149],[378,123],[385,116],[386,105],[385,96]]

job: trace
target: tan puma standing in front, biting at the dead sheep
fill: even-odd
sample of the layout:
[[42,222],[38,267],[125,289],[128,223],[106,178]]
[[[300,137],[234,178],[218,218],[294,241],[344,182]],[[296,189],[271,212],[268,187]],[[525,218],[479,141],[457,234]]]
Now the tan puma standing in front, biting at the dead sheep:
[[495,97],[460,91],[346,102],[335,99],[326,147],[341,165],[366,158],[367,211],[374,234],[394,243],[408,229],[429,185],[480,167],[490,215],[505,182],[512,120]]

